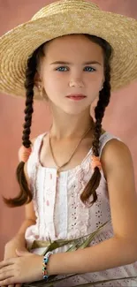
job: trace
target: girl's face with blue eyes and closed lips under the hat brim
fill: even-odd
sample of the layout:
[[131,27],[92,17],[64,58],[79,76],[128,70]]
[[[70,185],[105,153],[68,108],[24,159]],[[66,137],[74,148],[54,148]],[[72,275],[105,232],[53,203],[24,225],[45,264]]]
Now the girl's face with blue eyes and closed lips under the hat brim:
[[[40,75],[51,108],[72,115],[87,110],[103,87],[102,48],[82,34],[65,35],[46,44],[44,54]],[[86,97],[73,101],[69,94]]]

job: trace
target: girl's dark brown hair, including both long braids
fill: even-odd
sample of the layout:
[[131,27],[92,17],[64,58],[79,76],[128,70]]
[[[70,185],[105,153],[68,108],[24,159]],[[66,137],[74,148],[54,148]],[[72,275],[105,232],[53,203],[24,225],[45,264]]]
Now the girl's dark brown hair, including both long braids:
[[[95,107],[95,130],[94,130],[94,140],[93,140],[93,154],[95,156],[99,156],[99,138],[102,132],[102,120],[105,108],[108,106],[110,102],[110,58],[112,56],[112,48],[108,42],[103,40],[102,38],[96,37],[95,35],[84,34],[88,37],[92,42],[97,43],[103,49],[103,57],[104,57],[104,76],[105,81],[103,83],[103,89],[99,93],[99,100]],[[32,114],[33,103],[34,103],[34,75],[37,71],[37,66],[39,64],[40,57],[44,56],[43,47],[45,43],[43,43],[38,49],[34,50],[34,53],[28,57],[27,59],[27,69],[26,69],[26,109],[25,109],[25,124],[23,125],[23,136],[22,136],[22,145],[24,147],[30,147],[31,141],[29,139],[32,125]],[[19,162],[19,165],[16,170],[17,180],[20,186],[19,195],[13,199],[5,199],[4,202],[13,207],[22,206],[33,199],[32,192],[27,186],[27,179],[24,173],[24,162]],[[90,202],[92,205],[97,200],[96,188],[100,184],[101,172],[96,167],[95,171],[90,178],[88,185],[85,187],[83,193],[80,195],[80,199],[83,203],[86,203],[88,198],[93,195],[93,200]]]

